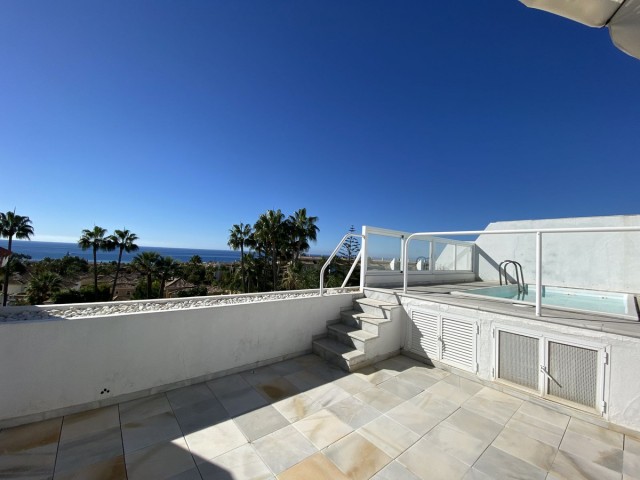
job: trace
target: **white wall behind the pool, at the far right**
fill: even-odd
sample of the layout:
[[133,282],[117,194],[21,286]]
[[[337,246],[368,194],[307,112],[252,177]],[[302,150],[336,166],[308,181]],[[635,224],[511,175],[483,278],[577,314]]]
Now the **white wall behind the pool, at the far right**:
[[[486,230],[632,226],[640,226],[640,215],[495,222]],[[543,285],[640,292],[640,232],[549,233],[542,239]],[[480,235],[476,241],[480,279],[498,281],[500,262],[515,260],[522,264],[525,281],[534,283],[535,244],[535,234]],[[511,269],[508,273],[513,274]]]

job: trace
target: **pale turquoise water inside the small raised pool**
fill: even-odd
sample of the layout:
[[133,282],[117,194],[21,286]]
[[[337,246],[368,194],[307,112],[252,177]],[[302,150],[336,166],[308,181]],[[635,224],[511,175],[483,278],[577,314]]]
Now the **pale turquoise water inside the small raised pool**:
[[[465,293],[484,297],[504,298],[531,304],[536,303],[535,285],[527,285],[524,293],[518,293],[518,287],[516,285],[476,288],[467,290]],[[608,293],[562,287],[542,287],[543,305],[626,315],[629,314],[627,303],[627,295],[623,293]]]

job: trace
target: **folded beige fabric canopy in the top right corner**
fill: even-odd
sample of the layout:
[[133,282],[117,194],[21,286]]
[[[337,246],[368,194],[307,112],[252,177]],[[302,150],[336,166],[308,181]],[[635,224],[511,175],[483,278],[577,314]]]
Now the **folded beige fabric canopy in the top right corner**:
[[520,0],[590,27],[609,27],[611,40],[640,59],[640,0]]

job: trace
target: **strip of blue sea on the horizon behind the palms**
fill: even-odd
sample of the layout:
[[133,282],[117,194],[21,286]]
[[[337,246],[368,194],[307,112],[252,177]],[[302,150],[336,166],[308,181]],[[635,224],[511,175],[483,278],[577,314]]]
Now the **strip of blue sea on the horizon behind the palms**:
[[[0,246],[7,248],[7,241],[0,241]],[[14,240],[11,250],[14,253],[23,253],[29,255],[31,260],[42,260],[45,257],[62,258],[65,255],[85,258],[93,261],[93,250],[82,250],[75,243],[58,243],[58,242],[36,242],[27,240]],[[122,261],[129,263],[137,254],[141,252],[157,252],[163,257],[172,257],[179,262],[187,262],[194,255],[199,255],[202,261],[231,263],[240,260],[240,252],[233,250],[204,250],[199,248],[166,248],[166,247],[142,247],[131,253],[123,252]],[[98,262],[111,262],[118,260],[118,251],[97,253]]]

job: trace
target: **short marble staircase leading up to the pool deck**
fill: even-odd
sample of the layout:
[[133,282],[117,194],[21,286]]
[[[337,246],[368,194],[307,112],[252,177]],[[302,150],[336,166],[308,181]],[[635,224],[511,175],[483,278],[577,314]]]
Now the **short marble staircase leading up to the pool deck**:
[[327,335],[313,342],[313,352],[343,370],[353,372],[393,352],[386,352],[382,336],[391,328],[397,303],[358,298],[353,309],[340,313],[340,320],[327,326]]

